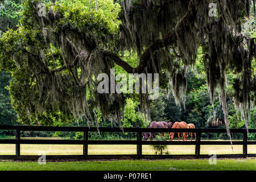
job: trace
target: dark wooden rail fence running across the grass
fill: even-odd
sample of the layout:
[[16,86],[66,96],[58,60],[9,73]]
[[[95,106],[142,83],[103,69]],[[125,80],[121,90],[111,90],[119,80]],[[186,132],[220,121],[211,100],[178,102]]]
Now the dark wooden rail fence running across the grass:
[[[13,160],[37,160],[38,155],[20,155],[20,144],[82,144],[82,155],[47,155],[46,158],[58,159],[193,159],[193,158],[209,158],[209,155],[200,154],[201,145],[230,145],[227,141],[202,141],[202,133],[226,133],[225,129],[141,129],[141,128],[123,128],[124,132],[137,133],[137,140],[89,140],[89,132],[98,132],[97,128],[91,127],[44,127],[44,126],[6,126],[0,125],[0,130],[15,130],[15,139],[0,139],[0,144],[15,144],[16,155],[0,155],[0,159]],[[83,140],[49,140],[49,139],[20,139],[20,131],[80,131],[84,132]],[[123,132],[119,128],[101,127],[100,132]],[[144,141],[142,133],[144,132],[192,132],[196,133],[196,140],[188,141]],[[245,129],[231,129],[231,133],[242,133],[242,141],[233,141],[233,145],[242,145],[243,154],[222,154],[217,158],[247,158],[256,157],[256,154],[247,154],[247,145],[256,144],[256,141],[247,140],[247,132]],[[250,129],[249,133],[256,133],[256,129]],[[189,138],[188,138],[189,139]],[[89,144],[134,144],[137,145],[136,155],[88,155]],[[148,144],[167,144],[167,145],[195,145],[194,155],[142,155],[142,145]],[[3,149],[5,150],[5,149]],[[231,149],[230,149],[231,150]],[[1,152],[1,151],[0,151]]]

